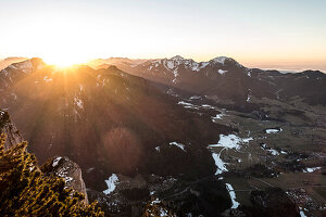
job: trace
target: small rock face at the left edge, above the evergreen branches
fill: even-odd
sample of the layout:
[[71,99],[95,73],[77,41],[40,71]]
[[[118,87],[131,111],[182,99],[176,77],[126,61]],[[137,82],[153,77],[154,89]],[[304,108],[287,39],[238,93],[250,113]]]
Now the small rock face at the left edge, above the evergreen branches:
[[4,149],[7,150],[23,141],[20,131],[15,125],[12,124],[8,112],[2,110],[0,110],[0,133],[4,133],[7,137],[4,144]]

